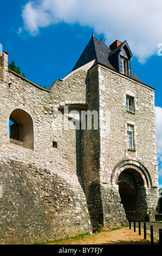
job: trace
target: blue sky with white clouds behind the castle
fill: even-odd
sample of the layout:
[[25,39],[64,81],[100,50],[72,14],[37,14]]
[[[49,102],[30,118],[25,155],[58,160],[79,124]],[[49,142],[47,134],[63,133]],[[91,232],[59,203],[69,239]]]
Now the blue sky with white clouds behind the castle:
[[133,53],[132,71],[155,88],[160,187],[161,23],[160,0],[1,1],[0,43],[9,53],[9,63],[14,60],[28,80],[47,89],[72,71],[93,32],[107,46],[116,39],[127,40]]

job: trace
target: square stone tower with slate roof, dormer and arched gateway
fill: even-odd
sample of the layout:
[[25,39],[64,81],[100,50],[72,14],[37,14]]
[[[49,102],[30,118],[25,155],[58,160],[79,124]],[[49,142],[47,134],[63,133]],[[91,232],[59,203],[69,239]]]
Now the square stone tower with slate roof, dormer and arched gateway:
[[99,129],[82,131],[82,180],[95,228],[125,217],[152,221],[157,207],[154,89],[133,74],[131,57],[127,41],[108,48],[92,35],[73,69],[90,64],[87,109],[99,113]]

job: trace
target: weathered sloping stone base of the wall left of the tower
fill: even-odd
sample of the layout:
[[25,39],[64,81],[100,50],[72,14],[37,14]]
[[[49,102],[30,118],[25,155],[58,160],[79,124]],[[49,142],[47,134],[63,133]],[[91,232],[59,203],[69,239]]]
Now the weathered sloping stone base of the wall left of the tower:
[[1,244],[28,244],[90,232],[81,186],[49,169],[1,159]]

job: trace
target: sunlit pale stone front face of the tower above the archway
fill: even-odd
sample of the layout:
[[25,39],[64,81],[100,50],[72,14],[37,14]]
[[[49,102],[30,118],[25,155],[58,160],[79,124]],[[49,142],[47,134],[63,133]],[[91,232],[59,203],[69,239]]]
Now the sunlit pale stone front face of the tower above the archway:
[[[108,169],[114,168],[114,163],[123,159],[138,160],[149,169],[152,185],[157,186],[154,90],[106,69],[99,70],[101,111],[104,114],[107,109],[109,119],[108,129],[104,127],[105,121],[102,121],[102,141],[105,141],[106,150],[103,155],[104,172],[108,173]],[[126,111],[126,94],[134,95],[135,114]],[[128,150],[127,123],[135,128],[135,151]]]

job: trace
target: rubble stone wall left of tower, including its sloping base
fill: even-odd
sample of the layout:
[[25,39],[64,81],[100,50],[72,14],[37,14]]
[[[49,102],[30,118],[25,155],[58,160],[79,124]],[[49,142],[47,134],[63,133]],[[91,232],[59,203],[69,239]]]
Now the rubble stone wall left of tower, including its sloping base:
[[[53,111],[70,95],[67,81],[55,93],[42,89],[14,72],[4,70],[0,81],[1,231],[0,243],[33,243],[91,231],[85,194],[77,171],[80,135],[57,129]],[[82,76],[83,81],[83,76]],[[59,89],[58,89],[59,88]],[[86,102],[73,92],[73,100]],[[58,97],[56,97],[58,96]],[[10,142],[9,117],[14,109],[27,112],[34,125],[34,148]],[[59,115],[59,118],[62,118]],[[53,142],[57,147],[53,147]]]

